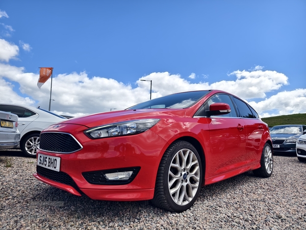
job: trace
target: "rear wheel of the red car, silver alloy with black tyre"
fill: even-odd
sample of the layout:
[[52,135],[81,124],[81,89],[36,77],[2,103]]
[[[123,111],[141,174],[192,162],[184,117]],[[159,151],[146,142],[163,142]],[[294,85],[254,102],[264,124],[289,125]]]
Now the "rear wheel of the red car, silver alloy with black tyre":
[[261,167],[253,170],[253,173],[261,177],[270,177],[273,171],[273,152],[271,146],[266,143],[260,160]]

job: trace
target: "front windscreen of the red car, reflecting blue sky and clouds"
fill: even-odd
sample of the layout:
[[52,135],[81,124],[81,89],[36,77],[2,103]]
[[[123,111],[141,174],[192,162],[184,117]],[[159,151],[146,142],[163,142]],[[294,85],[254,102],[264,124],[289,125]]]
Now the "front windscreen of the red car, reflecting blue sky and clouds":
[[149,109],[149,108],[188,108],[199,99],[209,93],[209,90],[191,91],[179,94],[171,94],[140,103],[127,109]]

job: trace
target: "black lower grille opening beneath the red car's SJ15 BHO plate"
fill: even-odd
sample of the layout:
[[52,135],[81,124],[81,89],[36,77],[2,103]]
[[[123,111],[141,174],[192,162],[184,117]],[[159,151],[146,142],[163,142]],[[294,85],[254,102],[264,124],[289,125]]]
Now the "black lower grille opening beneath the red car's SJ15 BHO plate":
[[57,172],[54,170],[46,169],[41,166],[36,166],[36,171],[39,175],[46,177],[50,180],[57,181],[59,183],[63,183],[64,185],[71,186],[72,188],[76,189],[78,192],[81,192],[77,184],[74,180],[65,172]]

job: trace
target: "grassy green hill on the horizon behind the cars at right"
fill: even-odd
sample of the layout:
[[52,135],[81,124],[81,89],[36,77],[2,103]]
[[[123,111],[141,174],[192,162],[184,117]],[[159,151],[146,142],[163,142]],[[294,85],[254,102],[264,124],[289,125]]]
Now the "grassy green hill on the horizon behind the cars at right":
[[262,118],[269,127],[274,125],[306,125],[306,113],[297,113],[270,118]]

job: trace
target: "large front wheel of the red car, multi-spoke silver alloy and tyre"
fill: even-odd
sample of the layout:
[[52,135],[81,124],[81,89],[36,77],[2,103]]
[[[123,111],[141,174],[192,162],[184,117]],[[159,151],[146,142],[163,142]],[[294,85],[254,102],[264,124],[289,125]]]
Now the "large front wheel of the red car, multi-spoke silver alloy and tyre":
[[152,203],[170,212],[184,212],[197,199],[202,165],[197,150],[186,141],[173,142],[164,153]]

